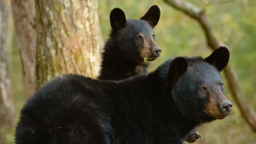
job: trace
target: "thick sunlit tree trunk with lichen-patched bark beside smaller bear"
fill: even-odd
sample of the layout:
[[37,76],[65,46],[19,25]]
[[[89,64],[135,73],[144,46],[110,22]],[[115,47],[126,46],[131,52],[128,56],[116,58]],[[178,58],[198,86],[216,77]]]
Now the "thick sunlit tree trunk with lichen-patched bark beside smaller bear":
[[36,0],[37,86],[64,73],[96,78],[100,68],[97,0]]

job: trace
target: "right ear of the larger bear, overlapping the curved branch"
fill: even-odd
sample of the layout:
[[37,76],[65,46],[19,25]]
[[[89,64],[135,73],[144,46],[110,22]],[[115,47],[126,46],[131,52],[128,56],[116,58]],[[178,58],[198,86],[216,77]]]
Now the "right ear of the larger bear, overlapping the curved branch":
[[229,51],[225,46],[220,46],[212,52],[210,56],[204,59],[206,62],[212,64],[219,71],[223,70],[229,60]]

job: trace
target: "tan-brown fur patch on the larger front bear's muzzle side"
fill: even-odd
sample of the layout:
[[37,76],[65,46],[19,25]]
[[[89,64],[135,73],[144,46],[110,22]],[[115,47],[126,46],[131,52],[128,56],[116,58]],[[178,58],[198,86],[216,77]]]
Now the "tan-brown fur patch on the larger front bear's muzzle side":
[[224,117],[220,117],[221,115],[220,109],[212,96],[210,96],[209,102],[207,103],[206,108],[204,109],[204,112],[207,115],[213,117],[214,119],[224,118]]

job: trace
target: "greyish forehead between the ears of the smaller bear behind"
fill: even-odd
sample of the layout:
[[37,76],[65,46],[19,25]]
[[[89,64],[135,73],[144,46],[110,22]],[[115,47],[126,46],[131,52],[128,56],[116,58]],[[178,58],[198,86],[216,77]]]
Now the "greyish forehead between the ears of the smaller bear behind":
[[149,23],[146,20],[127,19],[125,29],[142,33],[153,32],[153,28],[149,25]]

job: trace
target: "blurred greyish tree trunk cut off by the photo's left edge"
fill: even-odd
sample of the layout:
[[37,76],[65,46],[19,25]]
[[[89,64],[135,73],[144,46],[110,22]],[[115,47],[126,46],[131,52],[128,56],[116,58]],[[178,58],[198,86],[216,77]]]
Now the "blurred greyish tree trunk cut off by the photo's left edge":
[[14,106],[6,46],[8,10],[9,6],[4,0],[0,0],[0,143],[4,143],[5,133],[14,124]]

